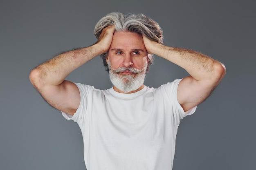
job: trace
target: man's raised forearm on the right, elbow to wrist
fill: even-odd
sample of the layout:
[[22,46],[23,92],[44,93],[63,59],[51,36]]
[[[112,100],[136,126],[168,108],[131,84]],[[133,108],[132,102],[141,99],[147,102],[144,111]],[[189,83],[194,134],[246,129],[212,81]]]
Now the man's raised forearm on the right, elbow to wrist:
[[225,66],[211,57],[190,49],[157,44],[152,53],[184,68],[194,79],[221,79]]

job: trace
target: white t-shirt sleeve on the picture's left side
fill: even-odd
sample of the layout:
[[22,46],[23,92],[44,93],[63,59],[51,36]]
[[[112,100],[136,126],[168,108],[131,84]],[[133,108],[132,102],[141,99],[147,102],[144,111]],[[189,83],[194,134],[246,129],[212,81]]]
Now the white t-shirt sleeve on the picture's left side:
[[78,87],[79,92],[80,92],[79,107],[73,116],[69,115],[67,113],[64,113],[62,111],[61,111],[61,113],[62,113],[63,117],[65,117],[65,119],[73,120],[73,121],[79,123],[79,121],[81,121],[83,119],[83,117],[85,117],[85,113],[86,113],[87,106],[88,106],[88,95],[90,94],[90,92],[93,90],[94,87],[85,85],[85,84],[80,84],[80,83],[75,83],[75,84]]

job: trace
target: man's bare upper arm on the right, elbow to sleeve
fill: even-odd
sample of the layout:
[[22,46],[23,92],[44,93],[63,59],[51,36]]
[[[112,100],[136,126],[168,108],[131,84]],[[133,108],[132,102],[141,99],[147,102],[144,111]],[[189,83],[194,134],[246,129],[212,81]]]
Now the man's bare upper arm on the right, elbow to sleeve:
[[185,77],[178,85],[177,100],[186,112],[202,103],[217,86],[211,80],[198,81],[192,76]]

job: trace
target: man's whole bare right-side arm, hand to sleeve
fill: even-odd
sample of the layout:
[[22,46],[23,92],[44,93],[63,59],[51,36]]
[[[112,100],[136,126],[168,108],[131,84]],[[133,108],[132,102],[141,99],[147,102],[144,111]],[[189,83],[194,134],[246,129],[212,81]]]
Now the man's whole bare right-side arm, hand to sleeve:
[[177,100],[183,110],[202,103],[225,76],[225,66],[212,58],[189,49],[164,46],[143,36],[148,53],[158,55],[184,68],[190,76],[180,82]]

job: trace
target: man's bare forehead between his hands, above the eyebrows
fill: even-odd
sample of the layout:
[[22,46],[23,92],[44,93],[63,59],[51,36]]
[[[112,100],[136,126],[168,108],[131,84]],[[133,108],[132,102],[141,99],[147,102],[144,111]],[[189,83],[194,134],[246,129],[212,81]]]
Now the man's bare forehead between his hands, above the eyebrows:
[[110,49],[126,49],[126,48],[141,48],[144,49],[144,42],[142,35],[138,33],[117,31],[113,35]]

